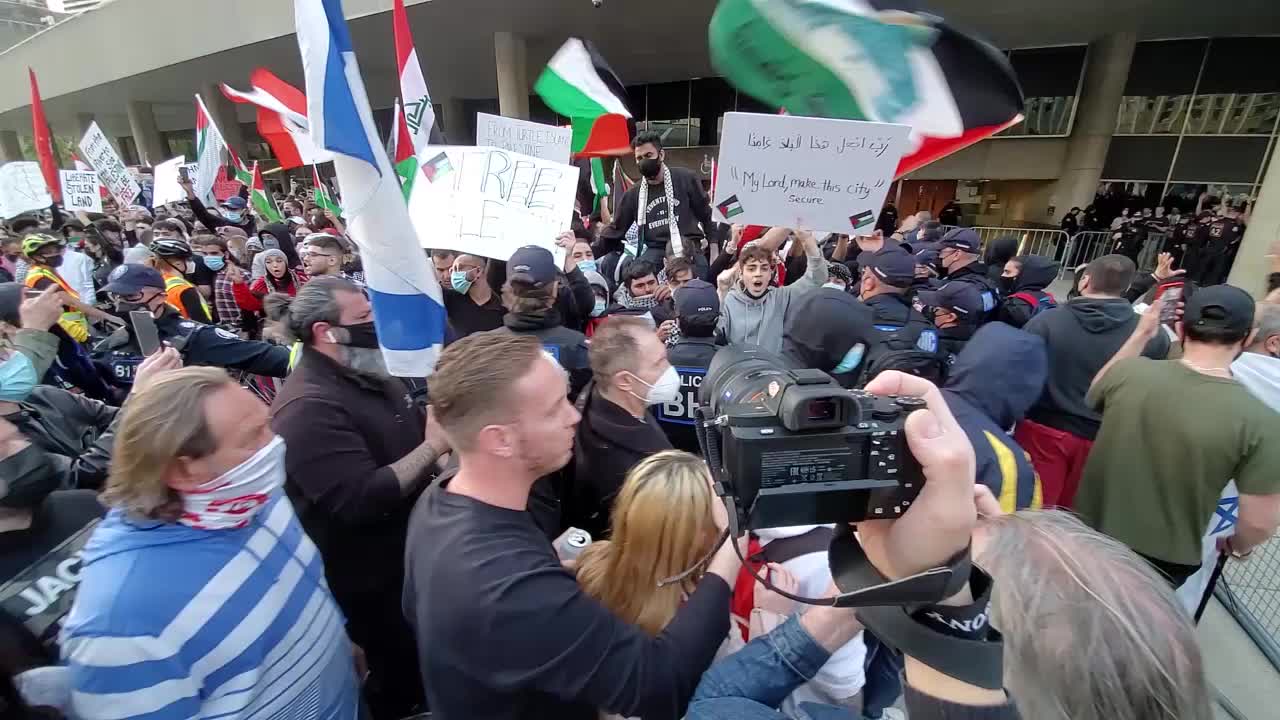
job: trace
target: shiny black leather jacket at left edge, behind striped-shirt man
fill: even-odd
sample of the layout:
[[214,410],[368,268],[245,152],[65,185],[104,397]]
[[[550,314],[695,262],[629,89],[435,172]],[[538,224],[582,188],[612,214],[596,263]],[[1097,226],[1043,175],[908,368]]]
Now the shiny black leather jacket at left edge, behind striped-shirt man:
[[63,477],[61,487],[101,488],[111,462],[119,407],[51,386],[36,386],[19,405],[22,410],[5,420],[45,451]]

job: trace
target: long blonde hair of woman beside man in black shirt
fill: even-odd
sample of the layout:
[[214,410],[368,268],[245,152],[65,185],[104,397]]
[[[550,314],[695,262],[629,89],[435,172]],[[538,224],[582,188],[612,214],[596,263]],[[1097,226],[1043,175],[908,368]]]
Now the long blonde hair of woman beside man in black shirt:
[[614,615],[657,635],[676,616],[701,570],[680,582],[710,551],[718,533],[707,464],[678,450],[650,455],[627,473],[613,502],[612,536],[577,561],[582,591]]

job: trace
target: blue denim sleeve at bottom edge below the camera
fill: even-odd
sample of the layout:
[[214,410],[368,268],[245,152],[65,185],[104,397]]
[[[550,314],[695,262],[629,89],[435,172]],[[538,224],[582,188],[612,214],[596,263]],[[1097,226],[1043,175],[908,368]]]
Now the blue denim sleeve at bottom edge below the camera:
[[[781,720],[778,705],[809,682],[831,653],[803,626],[799,615],[755,638],[703,675],[686,720]],[[852,720],[846,710],[803,703],[813,720]]]

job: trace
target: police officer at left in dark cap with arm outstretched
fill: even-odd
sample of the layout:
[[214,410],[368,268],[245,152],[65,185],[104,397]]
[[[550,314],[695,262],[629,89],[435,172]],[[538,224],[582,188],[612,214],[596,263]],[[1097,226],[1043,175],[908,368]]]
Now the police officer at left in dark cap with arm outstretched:
[[[123,314],[147,310],[155,318],[160,341],[175,347],[186,365],[212,365],[257,375],[289,374],[289,350],[268,342],[241,340],[214,325],[184,319],[166,302],[165,278],[146,265],[125,264],[111,270],[104,288]],[[132,386],[142,350],[132,323],[106,341],[106,361],[122,386]]]

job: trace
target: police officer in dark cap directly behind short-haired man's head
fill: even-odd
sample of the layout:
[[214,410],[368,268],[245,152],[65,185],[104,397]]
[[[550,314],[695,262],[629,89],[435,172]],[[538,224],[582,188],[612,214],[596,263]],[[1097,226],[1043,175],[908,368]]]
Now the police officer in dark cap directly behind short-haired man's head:
[[507,282],[502,288],[508,310],[502,319],[503,329],[536,337],[543,348],[568,372],[570,400],[575,400],[591,379],[591,364],[586,336],[566,328],[556,309],[558,292],[559,269],[549,250],[526,245],[511,254]]

